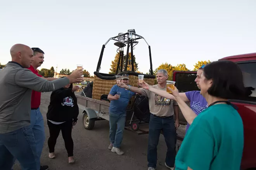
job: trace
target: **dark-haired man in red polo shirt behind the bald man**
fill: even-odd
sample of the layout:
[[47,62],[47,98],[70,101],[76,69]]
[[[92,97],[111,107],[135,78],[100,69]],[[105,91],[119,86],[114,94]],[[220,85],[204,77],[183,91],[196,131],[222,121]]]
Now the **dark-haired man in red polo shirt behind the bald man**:
[[[38,74],[37,68],[43,64],[44,52],[40,48],[31,48],[34,52],[31,66],[28,68],[37,76],[43,77]],[[56,78],[45,78],[47,80],[55,80]],[[41,92],[32,90],[31,95],[31,128],[33,129],[34,136],[36,139],[37,153],[39,158],[41,157],[43,150],[43,143],[45,142],[45,127],[43,123],[43,116],[40,112],[39,106],[41,104]],[[44,165],[40,167],[40,170],[48,170],[48,166]]]

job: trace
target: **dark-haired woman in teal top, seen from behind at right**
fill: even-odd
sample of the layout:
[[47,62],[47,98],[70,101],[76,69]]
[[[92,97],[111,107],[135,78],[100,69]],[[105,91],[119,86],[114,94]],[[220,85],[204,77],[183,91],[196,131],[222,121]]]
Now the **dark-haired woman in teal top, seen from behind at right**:
[[[246,97],[242,71],[231,61],[214,61],[199,80],[208,108],[194,118],[176,155],[175,170],[240,170],[244,147],[243,122],[228,99]],[[172,90],[183,113],[194,112]]]

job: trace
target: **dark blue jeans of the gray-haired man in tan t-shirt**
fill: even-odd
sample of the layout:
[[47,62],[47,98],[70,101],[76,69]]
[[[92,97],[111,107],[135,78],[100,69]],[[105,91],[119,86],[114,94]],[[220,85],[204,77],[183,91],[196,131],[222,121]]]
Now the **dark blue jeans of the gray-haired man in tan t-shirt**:
[[149,144],[147,149],[148,167],[156,168],[157,145],[161,130],[163,131],[164,139],[167,145],[167,153],[165,158],[166,165],[169,167],[174,167],[176,155],[176,129],[173,116],[161,118],[154,116],[153,114],[150,115],[149,121]]

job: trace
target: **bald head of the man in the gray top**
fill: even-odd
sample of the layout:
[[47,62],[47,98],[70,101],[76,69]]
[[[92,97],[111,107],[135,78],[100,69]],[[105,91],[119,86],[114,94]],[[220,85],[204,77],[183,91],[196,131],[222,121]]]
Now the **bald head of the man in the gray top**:
[[12,61],[21,64],[24,68],[29,68],[33,61],[33,50],[24,44],[15,44],[10,49]]

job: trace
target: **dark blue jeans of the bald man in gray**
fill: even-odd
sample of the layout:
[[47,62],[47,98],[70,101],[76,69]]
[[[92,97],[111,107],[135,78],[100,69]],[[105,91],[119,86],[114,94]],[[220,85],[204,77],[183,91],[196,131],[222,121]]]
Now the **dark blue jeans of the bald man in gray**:
[[0,134],[0,170],[11,170],[15,158],[22,170],[40,170],[40,158],[30,126]]

